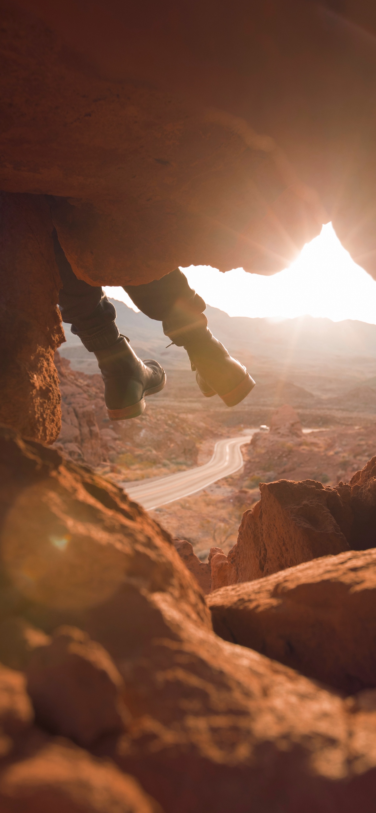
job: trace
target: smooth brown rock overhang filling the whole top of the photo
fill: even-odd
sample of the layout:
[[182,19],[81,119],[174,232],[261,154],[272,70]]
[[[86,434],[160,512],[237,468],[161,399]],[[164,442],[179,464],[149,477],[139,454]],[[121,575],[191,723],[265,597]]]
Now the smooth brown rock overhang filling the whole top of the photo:
[[77,276],[270,274],[332,220],[376,278],[376,7],[2,0],[0,189]]

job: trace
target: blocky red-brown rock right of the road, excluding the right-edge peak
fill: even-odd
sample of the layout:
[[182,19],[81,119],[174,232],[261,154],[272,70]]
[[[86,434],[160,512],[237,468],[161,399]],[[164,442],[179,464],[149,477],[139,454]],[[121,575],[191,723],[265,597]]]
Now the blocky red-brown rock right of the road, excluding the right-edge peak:
[[243,515],[238,541],[228,554],[228,584],[349,550],[348,495],[341,498],[315,480],[260,483],[260,493],[260,502]]

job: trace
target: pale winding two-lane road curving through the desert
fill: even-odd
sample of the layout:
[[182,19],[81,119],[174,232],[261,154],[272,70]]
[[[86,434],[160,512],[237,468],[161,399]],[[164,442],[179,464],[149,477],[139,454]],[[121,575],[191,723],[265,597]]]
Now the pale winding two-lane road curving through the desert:
[[189,497],[196,491],[206,489],[216,480],[238,472],[243,466],[241,446],[249,443],[255,432],[257,429],[249,429],[247,434],[216,441],[212,459],[203,466],[190,468],[186,472],[170,474],[167,477],[138,480],[137,484],[123,482],[119,485],[125,489],[130,499],[138,502],[147,511],[167,505],[168,502]]

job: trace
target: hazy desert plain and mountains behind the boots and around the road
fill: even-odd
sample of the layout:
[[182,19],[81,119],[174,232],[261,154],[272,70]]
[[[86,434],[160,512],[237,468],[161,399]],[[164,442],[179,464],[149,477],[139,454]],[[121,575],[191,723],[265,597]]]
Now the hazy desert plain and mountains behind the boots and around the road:
[[243,512],[260,498],[260,482],[337,485],[376,452],[376,326],[312,317],[231,319],[208,307],[216,335],[256,380],[246,401],[230,410],[219,398],[202,397],[186,354],[166,349],[159,323],[114,304],[120,330],[133,334],[139,354],[164,363],[168,383],[140,418],[110,423],[96,359],[67,331],[57,362],[63,425],[56,446],[64,454],[114,482],[132,483],[206,463],[221,437],[271,429],[243,446],[241,472],[152,512],[173,537],[190,541],[203,562],[212,546],[225,553],[234,546]]

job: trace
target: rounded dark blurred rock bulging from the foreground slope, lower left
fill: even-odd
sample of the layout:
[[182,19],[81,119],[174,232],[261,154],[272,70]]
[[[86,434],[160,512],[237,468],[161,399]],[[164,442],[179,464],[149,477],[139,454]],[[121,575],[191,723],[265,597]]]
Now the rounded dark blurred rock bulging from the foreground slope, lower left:
[[90,746],[129,723],[115,663],[80,629],[60,627],[48,646],[34,650],[27,680],[37,723],[78,745]]

